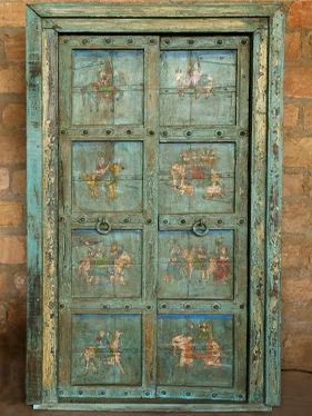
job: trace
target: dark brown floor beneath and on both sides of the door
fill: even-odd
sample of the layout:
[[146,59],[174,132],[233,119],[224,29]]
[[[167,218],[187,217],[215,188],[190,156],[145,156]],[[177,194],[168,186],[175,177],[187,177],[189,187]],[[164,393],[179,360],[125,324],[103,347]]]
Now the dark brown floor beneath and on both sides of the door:
[[[3,350],[2,350],[3,353]],[[8,351],[7,354],[8,355]],[[99,413],[89,412],[51,412],[33,410],[30,406],[24,405],[24,357],[23,351],[18,348],[10,348],[10,359],[1,357],[0,348],[0,416],[90,416]],[[2,359],[1,359],[2,358]],[[9,357],[6,357],[9,358]],[[273,416],[312,416],[312,374],[298,372],[283,372],[282,374],[282,406],[275,408]],[[112,413],[105,413],[107,416]],[[130,413],[114,413],[118,415],[130,415]],[[160,413],[140,413],[140,416],[163,415]],[[167,413],[165,415],[169,415]],[[187,413],[172,413],[175,416],[187,416]],[[211,414],[212,415],[212,414]],[[215,414],[218,416],[228,416],[229,414]],[[231,415],[243,415],[234,414]],[[251,414],[250,414],[251,415]],[[253,415],[264,415],[263,413],[253,413]]]

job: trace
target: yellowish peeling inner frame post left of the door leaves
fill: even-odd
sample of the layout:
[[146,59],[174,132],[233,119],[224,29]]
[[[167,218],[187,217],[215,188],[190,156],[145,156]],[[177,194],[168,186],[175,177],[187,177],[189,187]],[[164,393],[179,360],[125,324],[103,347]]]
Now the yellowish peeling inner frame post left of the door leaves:
[[42,36],[42,398],[57,402],[58,321],[58,36]]

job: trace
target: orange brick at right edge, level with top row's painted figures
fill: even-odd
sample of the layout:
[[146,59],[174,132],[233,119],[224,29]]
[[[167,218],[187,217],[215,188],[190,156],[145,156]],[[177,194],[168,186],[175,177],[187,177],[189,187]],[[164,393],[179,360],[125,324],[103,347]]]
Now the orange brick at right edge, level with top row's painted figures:
[[284,89],[285,96],[296,98],[312,98],[312,66],[286,68]]

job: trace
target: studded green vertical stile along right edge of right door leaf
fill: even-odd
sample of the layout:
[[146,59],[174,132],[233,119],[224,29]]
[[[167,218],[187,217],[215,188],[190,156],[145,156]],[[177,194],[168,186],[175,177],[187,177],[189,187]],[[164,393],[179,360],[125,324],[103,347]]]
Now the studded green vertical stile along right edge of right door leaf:
[[[235,167],[235,288],[236,304],[234,341],[236,348],[235,374],[238,388],[245,390],[246,385],[246,336],[248,336],[248,169],[249,169],[249,81],[250,81],[250,39],[242,37],[238,46],[238,139]],[[245,394],[244,394],[245,397]]]

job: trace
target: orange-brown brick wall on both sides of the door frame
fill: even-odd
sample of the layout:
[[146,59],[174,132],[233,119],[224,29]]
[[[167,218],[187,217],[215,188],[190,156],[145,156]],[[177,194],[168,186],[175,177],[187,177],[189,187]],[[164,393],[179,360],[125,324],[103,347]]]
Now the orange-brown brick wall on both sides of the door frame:
[[[312,1],[285,1],[285,4],[289,16],[284,91],[283,367],[312,369]],[[8,345],[22,348],[26,334],[24,98],[24,1],[2,0],[0,346],[3,350],[8,350]],[[4,361],[6,356],[2,358]]]

